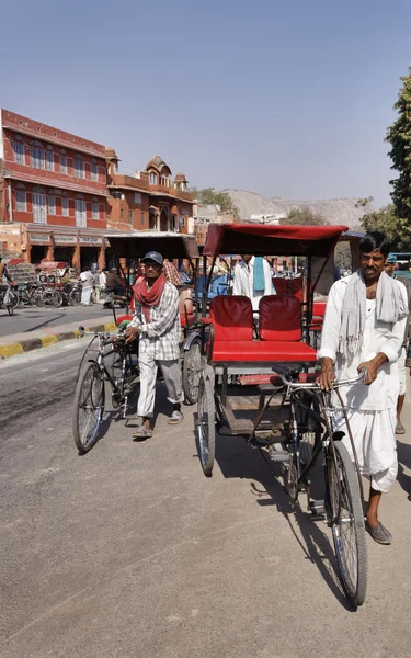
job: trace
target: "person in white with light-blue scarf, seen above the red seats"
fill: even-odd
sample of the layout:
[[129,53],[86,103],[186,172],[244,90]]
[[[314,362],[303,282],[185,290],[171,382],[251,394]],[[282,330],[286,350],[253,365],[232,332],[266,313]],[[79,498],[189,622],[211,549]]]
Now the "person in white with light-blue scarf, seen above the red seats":
[[[258,311],[262,297],[265,297],[265,295],[275,295],[270,264],[265,258],[251,254],[243,254],[241,259],[235,266],[232,294],[249,297],[253,310]],[[258,259],[260,259],[259,262],[256,262]],[[259,277],[256,277],[256,272],[254,276],[254,268],[256,269],[256,266],[260,268]]]

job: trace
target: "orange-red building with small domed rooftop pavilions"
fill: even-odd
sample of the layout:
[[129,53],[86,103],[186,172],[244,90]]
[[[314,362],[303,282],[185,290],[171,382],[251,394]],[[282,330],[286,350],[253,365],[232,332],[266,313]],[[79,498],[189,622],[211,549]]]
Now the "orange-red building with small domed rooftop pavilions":
[[171,180],[169,166],[155,156],[135,175],[118,172],[118,158],[106,149],[107,224],[121,230],[193,232],[193,196],[183,173]]

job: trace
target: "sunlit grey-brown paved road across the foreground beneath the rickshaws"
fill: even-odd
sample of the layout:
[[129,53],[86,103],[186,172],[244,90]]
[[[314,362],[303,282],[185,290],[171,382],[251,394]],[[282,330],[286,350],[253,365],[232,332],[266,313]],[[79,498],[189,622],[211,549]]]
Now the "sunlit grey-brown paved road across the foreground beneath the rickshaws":
[[[408,657],[410,440],[367,537],[365,605],[350,610],[329,534],[293,508],[259,452],[220,439],[212,478],[190,408],[130,441],[112,418],[79,457],[71,398],[77,342],[0,364],[2,658]],[[406,423],[411,428],[410,400]],[[411,436],[411,434],[410,434]]]

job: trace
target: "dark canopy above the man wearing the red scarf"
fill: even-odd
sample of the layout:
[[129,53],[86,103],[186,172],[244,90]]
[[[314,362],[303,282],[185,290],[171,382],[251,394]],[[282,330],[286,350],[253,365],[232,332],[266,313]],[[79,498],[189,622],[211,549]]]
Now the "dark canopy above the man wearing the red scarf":
[[198,258],[195,236],[169,231],[138,231],[105,236],[117,258],[142,258],[148,251],[158,251],[163,258]]

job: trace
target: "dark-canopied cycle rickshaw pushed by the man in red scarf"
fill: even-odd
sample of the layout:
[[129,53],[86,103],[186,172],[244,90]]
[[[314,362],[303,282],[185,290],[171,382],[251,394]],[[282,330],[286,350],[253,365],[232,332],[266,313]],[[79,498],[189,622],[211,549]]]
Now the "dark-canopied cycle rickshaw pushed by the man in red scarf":
[[[193,290],[197,285],[198,248],[192,235],[173,232],[133,232],[105,236],[117,257],[126,281],[126,299],[130,297],[130,263],[142,258],[149,251],[159,251],[164,259],[183,259],[190,263],[193,283],[180,288],[180,325],[182,328],[181,366],[184,398],[195,404],[198,398],[201,371],[202,327],[198,311],[193,305]],[[130,320],[133,315],[127,307],[125,314],[116,317],[116,325]],[[85,331],[82,336],[93,336],[79,366],[79,379],[75,395],[73,436],[80,453],[85,453],[99,440],[99,429],[103,420],[105,405],[105,384],[111,387],[112,405],[123,408],[123,418],[127,418],[127,400],[138,385],[137,343],[128,344],[118,332]],[[87,362],[87,367],[82,367]]]

